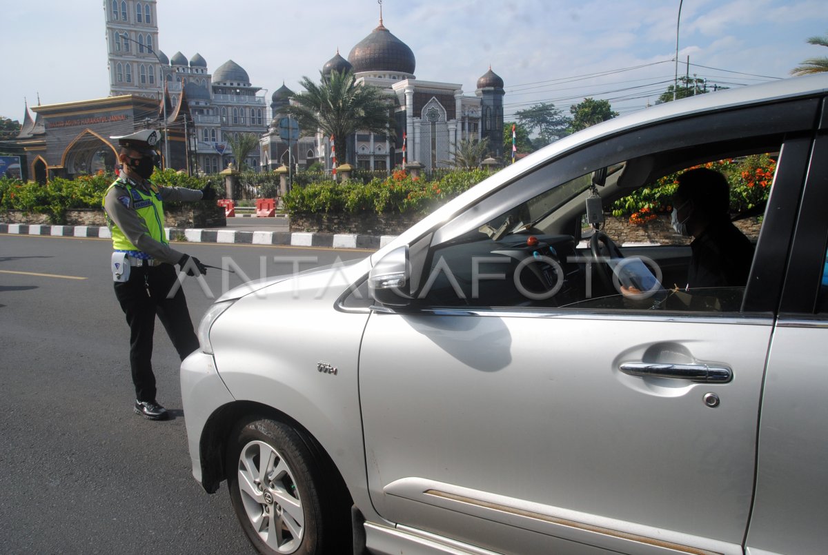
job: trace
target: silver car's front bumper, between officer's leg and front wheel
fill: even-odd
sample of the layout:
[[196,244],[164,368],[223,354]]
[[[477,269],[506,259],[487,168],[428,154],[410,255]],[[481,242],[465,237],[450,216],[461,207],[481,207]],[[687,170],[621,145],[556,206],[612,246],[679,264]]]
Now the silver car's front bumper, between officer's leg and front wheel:
[[233,395],[230,395],[219,372],[216,371],[212,355],[196,351],[181,362],[181,400],[184,406],[193,476],[203,484],[202,433],[215,410],[233,402]]

